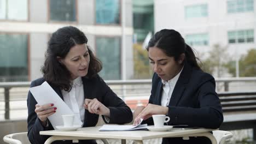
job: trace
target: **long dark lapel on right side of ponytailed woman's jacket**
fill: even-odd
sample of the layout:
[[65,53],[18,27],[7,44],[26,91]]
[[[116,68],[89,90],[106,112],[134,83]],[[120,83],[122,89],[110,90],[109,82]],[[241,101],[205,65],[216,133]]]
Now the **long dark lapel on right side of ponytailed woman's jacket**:
[[191,70],[192,70],[191,66],[187,63],[187,61],[185,61],[181,75],[179,75],[179,79],[173,89],[169,106],[177,106],[178,105],[178,102],[182,98],[182,95],[187,86],[187,83],[189,82]]

